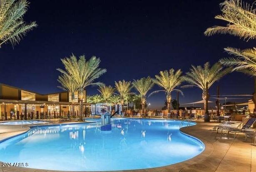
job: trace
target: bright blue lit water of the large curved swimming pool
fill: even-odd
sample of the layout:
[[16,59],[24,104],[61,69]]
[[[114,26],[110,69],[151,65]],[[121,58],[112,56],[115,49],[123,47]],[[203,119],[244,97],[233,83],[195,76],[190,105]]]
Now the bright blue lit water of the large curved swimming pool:
[[0,143],[0,161],[27,162],[29,168],[66,171],[171,165],[204,150],[201,141],[179,131],[180,122],[112,119],[111,133],[101,132],[99,122],[44,126]]

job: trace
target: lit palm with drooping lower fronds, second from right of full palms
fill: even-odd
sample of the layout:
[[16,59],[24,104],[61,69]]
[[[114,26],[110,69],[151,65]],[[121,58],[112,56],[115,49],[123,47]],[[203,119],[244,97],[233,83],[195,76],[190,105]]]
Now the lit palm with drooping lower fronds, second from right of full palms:
[[181,92],[181,94],[183,94],[181,90],[175,89],[176,87],[181,85],[181,83],[183,82],[183,77],[181,76],[182,72],[180,69],[174,72],[174,69],[171,68],[169,72],[167,70],[164,70],[164,71],[160,71],[159,74],[160,75],[155,75],[156,79],[152,79],[152,80],[155,84],[159,85],[159,87],[163,88],[164,90],[154,91],[151,94],[149,94],[149,96],[151,96],[154,93],[158,93],[162,91],[165,92],[166,99],[167,99],[167,109],[168,109],[168,113],[170,113],[171,112],[171,92],[176,90],[178,92]]

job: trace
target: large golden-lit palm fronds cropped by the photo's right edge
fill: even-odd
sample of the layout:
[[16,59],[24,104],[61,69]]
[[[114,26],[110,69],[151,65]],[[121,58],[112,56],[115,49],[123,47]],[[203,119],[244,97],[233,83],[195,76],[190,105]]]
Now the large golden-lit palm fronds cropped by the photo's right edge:
[[[256,39],[256,9],[253,5],[241,0],[225,0],[221,5],[222,15],[216,19],[227,22],[225,27],[215,26],[208,28],[204,34],[231,34],[240,39]],[[254,109],[256,109],[256,48],[240,50],[238,48],[224,48],[233,57],[223,58],[220,62],[226,66],[235,66],[234,70],[254,76]]]

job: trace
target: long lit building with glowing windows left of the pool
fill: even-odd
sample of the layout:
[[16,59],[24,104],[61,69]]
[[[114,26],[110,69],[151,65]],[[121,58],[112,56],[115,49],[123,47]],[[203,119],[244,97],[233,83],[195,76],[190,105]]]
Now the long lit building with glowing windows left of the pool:
[[[40,94],[0,83],[0,118],[48,119],[72,114],[71,95],[68,92]],[[89,114],[90,103],[84,91],[83,114]],[[75,93],[75,111],[79,112],[78,94]]]

